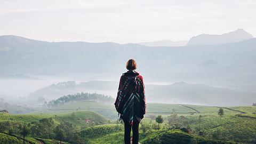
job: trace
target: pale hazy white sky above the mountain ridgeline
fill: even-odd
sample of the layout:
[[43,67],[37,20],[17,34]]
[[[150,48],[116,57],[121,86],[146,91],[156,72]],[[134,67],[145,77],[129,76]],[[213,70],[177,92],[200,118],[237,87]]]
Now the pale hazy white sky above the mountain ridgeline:
[[238,28],[256,36],[255,0],[0,0],[0,35],[42,41],[179,41]]

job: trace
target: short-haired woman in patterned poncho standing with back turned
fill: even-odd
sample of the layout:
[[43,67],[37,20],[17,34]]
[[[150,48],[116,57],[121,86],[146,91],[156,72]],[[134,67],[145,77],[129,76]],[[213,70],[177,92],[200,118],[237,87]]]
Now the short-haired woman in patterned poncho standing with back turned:
[[127,72],[119,82],[115,107],[124,122],[124,142],[130,144],[132,129],[132,143],[139,141],[139,123],[146,113],[145,86],[142,76],[135,71],[137,63],[130,59],[126,63]]

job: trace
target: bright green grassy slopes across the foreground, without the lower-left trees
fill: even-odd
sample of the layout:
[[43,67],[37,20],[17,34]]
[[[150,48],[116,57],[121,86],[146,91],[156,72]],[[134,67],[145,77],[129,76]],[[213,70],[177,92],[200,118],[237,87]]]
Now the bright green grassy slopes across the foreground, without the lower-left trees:
[[[155,140],[167,143],[166,139],[175,143],[255,143],[256,141],[256,107],[223,107],[224,115],[220,119],[218,110],[220,107],[174,105],[167,103],[147,103],[147,114],[142,120],[143,124],[151,125],[150,131],[142,131],[140,125],[140,142],[154,143]],[[177,114],[178,123],[182,123],[181,116],[188,121],[190,133],[184,133],[178,129],[170,129],[171,115]],[[161,129],[157,130],[155,116],[164,118]],[[199,115],[201,121],[199,126]],[[247,117],[246,117],[247,116]],[[54,119],[56,125],[61,122],[72,123],[77,133],[89,143],[123,143],[123,125],[108,124],[111,120],[115,123],[117,112],[114,105],[104,105],[97,102],[77,102],[61,105],[51,109],[36,111],[36,113],[12,115],[0,114],[1,121],[33,122],[42,118]],[[90,119],[86,122],[86,119]],[[201,136],[199,137],[199,132]],[[10,137],[10,138],[7,138]],[[15,137],[2,133],[2,139],[15,141]],[[34,139],[34,138],[31,138]],[[215,139],[215,140],[213,140]],[[34,139],[36,140],[36,139]],[[172,141],[174,140],[174,141]],[[181,141],[180,141],[181,140]],[[19,141],[19,140],[17,140]],[[43,143],[51,143],[52,140],[41,140]],[[229,141],[229,142],[227,142]]]

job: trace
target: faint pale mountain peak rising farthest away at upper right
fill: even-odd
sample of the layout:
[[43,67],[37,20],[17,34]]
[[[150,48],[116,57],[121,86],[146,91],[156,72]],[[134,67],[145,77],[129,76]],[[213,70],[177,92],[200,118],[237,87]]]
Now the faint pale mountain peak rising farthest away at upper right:
[[234,43],[253,38],[253,36],[242,28],[222,35],[201,34],[190,38],[187,45],[214,45],[223,43]]

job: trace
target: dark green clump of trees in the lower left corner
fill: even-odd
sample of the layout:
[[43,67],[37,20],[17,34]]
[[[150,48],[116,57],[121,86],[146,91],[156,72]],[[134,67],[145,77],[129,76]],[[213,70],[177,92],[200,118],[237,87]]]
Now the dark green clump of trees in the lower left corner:
[[54,123],[53,118],[43,118],[31,123],[21,123],[15,121],[0,122],[0,131],[20,135],[25,137],[35,137],[43,139],[54,139],[69,143],[84,143],[82,138],[75,132],[74,126],[68,122],[60,124]]

